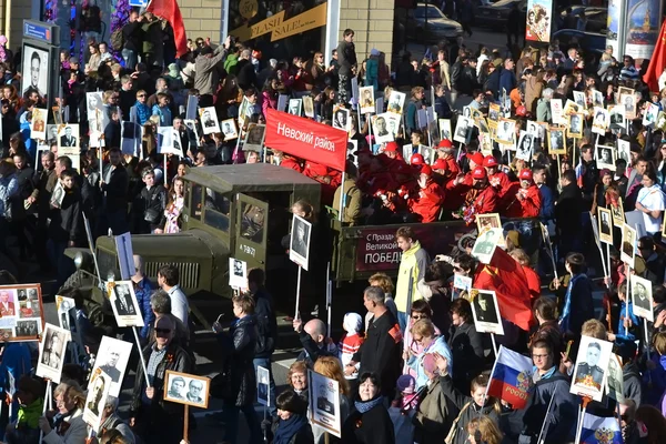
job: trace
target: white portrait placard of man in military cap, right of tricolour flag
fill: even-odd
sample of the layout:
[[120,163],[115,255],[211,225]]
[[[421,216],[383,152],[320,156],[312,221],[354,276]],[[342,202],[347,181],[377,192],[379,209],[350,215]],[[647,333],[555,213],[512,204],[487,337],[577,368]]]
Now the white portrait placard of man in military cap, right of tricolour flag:
[[613,343],[591,336],[581,336],[571,393],[602,401],[606,385],[606,370],[613,354]]

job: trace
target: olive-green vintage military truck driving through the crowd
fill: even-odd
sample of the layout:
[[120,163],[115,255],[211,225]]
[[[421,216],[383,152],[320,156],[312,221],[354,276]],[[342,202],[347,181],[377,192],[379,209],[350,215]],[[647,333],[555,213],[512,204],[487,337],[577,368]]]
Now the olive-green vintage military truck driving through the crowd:
[[[289,281],[281,273],[289,270],[282,239],[290,232],[290,208],[301,199],[319,208],[321,185],[294,170],[265,163],[194,168],[184,181],[182,232],[133,235],[132,250],[144,259],[147,275],[153,282],[160,266],[175,264],[194,315],[210,325],[219,313],[213,310],[215,302],[231,295],[229,258],[245,261],[248,268],[262,268],[269,278],[280,276],[272,280],[276,286]],[[331,276],[337,286],[364,282],[377,271],[396,274],[401,252],[394,234],[404,224],[342,226],[334,211],[329,212],[333,233]],[[448,252],[463,235],[475,230],[463,222],[413,228],[432,254]],[[324,250],[322,246],[311,245],[311,254]],[[95,253],[102,280],[119,280],[113,238],[99,238]],[[79,269],[68,284],[95,289],[98,280],[90,250],[69,249],[67,254]],[[101,297],[101,293],[95,293]]]

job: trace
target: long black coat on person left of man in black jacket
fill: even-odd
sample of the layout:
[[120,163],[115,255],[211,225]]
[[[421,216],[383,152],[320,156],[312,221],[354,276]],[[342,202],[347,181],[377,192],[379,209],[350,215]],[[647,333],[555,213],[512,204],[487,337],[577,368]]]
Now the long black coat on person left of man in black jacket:
[[256,349],[256,320],[246,315],[236,321],[228,333],[221,333],[224,353],[226,390],[224,402],[235,406],[252,405],[256,400],[254,350]]

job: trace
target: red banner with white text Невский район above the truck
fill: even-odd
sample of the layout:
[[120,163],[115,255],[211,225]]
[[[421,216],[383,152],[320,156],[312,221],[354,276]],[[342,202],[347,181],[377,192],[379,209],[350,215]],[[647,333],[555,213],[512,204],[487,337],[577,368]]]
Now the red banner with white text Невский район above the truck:
[[266,110],[265,145],[344,171],[347,133],[310,119]]

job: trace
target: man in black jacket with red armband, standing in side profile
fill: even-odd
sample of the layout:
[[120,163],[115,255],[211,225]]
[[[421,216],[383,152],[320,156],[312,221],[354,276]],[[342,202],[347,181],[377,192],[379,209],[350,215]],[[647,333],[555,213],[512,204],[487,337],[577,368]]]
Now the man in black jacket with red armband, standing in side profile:
[[402,353],[402,333],[397,321],[384,303],[384,291],[379,286],[369,286],[363,292],[363,305],[373,314],[367,326],[363,345],[344,369],[345,374],[371,372],[380,375],[382,395],[393,400],[395,381],[400,376]]

